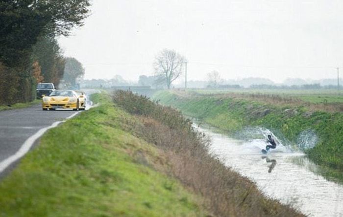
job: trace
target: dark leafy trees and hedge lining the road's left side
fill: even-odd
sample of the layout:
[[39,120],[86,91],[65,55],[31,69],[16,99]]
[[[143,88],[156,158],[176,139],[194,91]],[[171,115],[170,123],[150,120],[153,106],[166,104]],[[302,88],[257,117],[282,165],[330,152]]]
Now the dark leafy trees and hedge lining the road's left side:
[[0,0],[0,104],[32,101],[39,82],[58,86],[75,59],[63,57],[56,38],[82,26],[89,7],[89,0]]

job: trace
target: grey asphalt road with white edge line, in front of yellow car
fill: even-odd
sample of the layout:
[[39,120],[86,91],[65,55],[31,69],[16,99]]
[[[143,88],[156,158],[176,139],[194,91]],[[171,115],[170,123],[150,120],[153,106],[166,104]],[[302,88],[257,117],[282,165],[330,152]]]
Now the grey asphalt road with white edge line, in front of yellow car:
[[40,104],[25,109],[0,111],[0,177],[32,148],[46,130],[78,112],[43,111]]

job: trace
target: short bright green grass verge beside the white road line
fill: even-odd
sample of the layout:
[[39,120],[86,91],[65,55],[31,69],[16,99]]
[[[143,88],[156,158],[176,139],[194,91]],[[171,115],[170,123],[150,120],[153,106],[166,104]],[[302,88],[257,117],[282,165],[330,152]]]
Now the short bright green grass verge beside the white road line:
[[132,116],[94,100],[102,105],[49,130],[1,180],[0,216],[206,216],[197,196],[153,169],[160,151],[120,127]]

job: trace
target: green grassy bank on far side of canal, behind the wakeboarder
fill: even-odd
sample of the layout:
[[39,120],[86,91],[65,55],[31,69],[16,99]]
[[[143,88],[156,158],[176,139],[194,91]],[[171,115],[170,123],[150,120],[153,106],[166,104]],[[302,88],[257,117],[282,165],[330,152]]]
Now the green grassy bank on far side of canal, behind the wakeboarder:
[[[268,128],[288,145],[303,149],[314,162],[325,168],[322,170],[325,175],[343,180],[343,113],[325,110],[330,105],[323,107],[310,103],[310,99],[316,98],[314,96],[298,96],[308,101],[301,101],[291,94],[206,91],[162,91],[153,98],[231,135],[246,126]],[[337,104],[335,106],[339,108]],[[308,147],[309,141],[303,141],[304,134],[310,135],[314,147]]]

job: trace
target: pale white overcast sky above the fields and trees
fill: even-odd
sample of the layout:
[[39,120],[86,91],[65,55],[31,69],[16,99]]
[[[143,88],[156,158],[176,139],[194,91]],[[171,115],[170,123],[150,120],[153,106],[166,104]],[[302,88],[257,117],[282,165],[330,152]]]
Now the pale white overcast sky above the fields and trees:
[[187,80],[206,80],[216,70],[225,80],[262,77],[279,83],[337,78],[337,67],[343,67],[343,0],[92,4],[85,25],[59,39],[64,55],[85,67],[85,79],[121,75],[138,81],[153,75],[152,63],[164,48],[186,57]]

